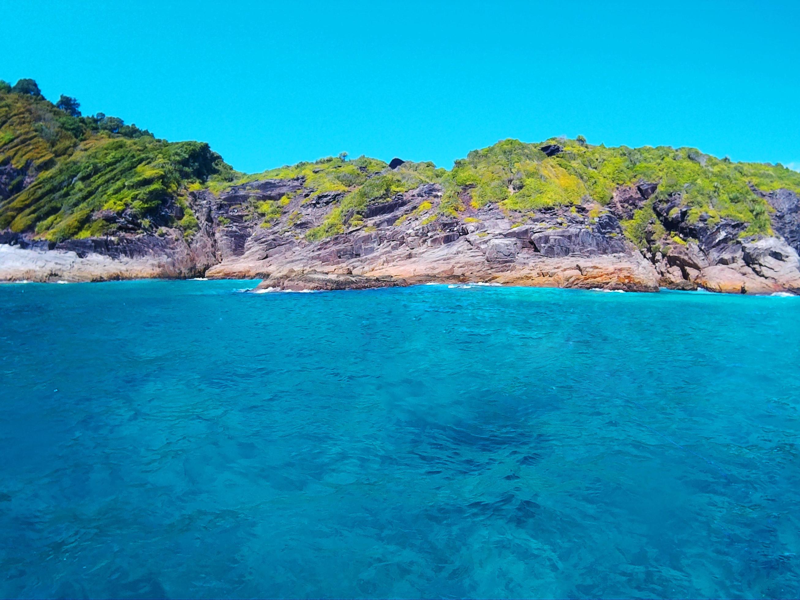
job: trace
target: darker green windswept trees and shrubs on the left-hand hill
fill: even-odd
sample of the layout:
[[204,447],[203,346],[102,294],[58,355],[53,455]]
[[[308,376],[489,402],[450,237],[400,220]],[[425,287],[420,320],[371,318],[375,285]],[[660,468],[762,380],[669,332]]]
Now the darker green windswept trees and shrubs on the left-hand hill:
[[[0,230],[59,241],[99,236],[126,222],[146,230],[156,217],[196,228],[186,188],[230,170],[207,144],[159,140],[105,114],[74,116],[74,98],[62,96],[59,105],[68,110],[34,94],[0,91],[0,169],[10,174]],[[180,219],[164,213],[175,205]]]

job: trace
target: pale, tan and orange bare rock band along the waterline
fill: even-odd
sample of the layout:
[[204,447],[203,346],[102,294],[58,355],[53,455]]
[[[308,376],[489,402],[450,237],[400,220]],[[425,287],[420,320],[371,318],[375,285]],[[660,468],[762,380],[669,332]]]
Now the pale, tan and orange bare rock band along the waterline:
[[[145,240],[146,242],[146,240]],[[347,235],[339,243],[347,243]],[[553,287],[584,290],[658,292],[705,289],[711,293],[800,294],[797,254],[789,262],[771,254],[758,265],[717,264],[698,270],[691,280],[665,278],[636,250],[614,254],[542,256],[520,250],[513,259],[489,260],[466,239],[418,249],[387,248],[349,260],[321,259],[319,246],[306,244],[266,256],[239,255],[198,261],[189,252],[168,250],[110,255],[96,251],[41,250],[0,244],[0,282],[105,282],[137,279],[250,279],[260,289],[359,290],[424,283]],[[324,257],[323,257],[324,258]],[[794,258],[794,262],[791,259]],[[776,270],[770,269],[775,266]],[[777,270],[777,269],[781,270]]]

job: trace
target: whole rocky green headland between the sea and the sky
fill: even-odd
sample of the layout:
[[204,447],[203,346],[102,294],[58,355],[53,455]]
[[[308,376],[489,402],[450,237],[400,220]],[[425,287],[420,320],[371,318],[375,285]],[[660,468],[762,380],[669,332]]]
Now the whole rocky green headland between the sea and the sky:
[[451,170],[342,155],[244,175],[204,143],[74,112],[0,86],[0,278],[800,290],[800,174],[779,165],[579,137],[503,140]]

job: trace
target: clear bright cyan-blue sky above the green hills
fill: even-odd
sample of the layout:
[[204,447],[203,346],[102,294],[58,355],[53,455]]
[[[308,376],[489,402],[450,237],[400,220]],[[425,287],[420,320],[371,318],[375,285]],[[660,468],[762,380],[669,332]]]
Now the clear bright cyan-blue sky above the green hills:
[[0,0],[0,78],[37,80],[254,172],[502,138],[697,146],[800,168],[800,0]]

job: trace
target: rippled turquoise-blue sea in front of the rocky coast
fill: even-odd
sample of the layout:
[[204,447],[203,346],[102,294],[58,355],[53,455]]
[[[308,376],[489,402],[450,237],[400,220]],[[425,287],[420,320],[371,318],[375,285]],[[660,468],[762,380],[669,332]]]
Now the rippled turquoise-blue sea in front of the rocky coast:
[[0,286],[0,596],[800,595],[800,298]]

